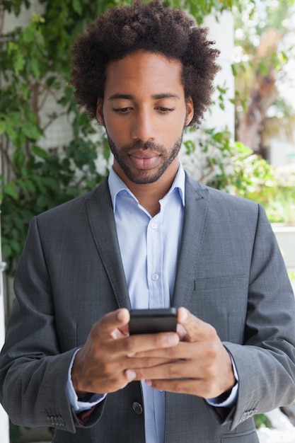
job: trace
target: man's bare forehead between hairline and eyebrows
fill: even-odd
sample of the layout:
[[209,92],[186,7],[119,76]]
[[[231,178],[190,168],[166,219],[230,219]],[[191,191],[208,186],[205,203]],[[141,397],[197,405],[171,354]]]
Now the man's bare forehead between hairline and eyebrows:
[[184,95],[182,64],[163,54],[138,51],[112,61],[105,70],[105,97],[115,93]]

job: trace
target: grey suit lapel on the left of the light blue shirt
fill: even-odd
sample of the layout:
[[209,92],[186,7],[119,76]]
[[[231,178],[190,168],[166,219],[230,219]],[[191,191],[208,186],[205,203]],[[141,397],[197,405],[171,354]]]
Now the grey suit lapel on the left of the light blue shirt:
[[87,202],[88,219],[100,258],[120,308],[131,309],[122,265],[108,179],[96,188]]

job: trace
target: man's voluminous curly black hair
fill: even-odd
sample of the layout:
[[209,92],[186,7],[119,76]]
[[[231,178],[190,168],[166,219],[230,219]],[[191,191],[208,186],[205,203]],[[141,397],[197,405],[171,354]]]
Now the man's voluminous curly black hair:
[[136,0],[132,6],[108,9],[71,48],[76,100],[95,118],[97,99],[104,96],[106,65],[138,50],[154,52],[182,63],[185,98],[192,97],[195,109],[190,125],[199,126],[219,70],[219,50],[207,40],[207,32],[183,11],[164,7],[161,0]]

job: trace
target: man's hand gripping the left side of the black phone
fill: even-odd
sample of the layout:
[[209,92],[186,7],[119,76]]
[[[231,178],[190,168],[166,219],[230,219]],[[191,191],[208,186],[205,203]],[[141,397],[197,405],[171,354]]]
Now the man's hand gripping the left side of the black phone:
[[[146,367],[145,358],[137,358],[134,362],[130,356],[178,344],[177,333],[129,337],[129,318],[127,309],[118,309],[100,318],[91,328],[85,345],[76,353],[71,370],[71,379],[79,398],[88,392],[110,393],[124,388],[136,377],[134,370],[129,370],[130,367]],[[162,358],[149,360],[149,364],[162,362]]]

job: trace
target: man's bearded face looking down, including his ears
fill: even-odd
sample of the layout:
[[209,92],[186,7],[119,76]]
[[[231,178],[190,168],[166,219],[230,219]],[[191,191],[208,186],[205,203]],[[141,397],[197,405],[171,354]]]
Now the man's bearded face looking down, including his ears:
[[192,119],[181,64],[161,54],[135,52],[108,64],[97,117],[105,126],[114,168],[125,183],[173,178],[183,128]]

